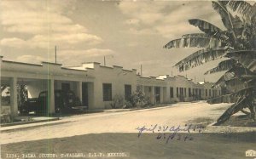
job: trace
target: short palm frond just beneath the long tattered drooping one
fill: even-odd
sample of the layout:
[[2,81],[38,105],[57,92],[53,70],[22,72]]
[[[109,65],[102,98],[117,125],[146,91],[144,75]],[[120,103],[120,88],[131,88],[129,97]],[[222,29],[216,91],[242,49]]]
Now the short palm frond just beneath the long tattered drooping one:
[[212,74],[212,73],[216,73],[216,72],[219,72],[219,71],[230,70],[234,66],[235,62],[236,62],[236,60],[224,60],[224,61],[221,61],[220,63],[218,63],[217,67],[214,67],[211,70],[205,72],[205,75],[207,75],[209,73]]

